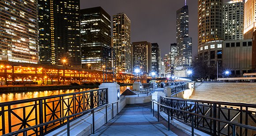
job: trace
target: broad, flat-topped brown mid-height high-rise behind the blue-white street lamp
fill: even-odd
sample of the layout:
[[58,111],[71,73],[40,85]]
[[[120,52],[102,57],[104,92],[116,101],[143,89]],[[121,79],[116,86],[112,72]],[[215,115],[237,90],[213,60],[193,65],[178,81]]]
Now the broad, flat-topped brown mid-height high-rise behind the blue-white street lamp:
[[132,70],[140,69],[143,74],[152,72],[152,45],[147,41],[132,42]]

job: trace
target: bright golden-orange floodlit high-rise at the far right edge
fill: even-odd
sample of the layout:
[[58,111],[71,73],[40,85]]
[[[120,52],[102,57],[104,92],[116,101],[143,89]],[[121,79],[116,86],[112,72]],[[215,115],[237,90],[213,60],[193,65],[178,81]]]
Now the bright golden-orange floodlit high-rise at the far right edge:
[[255,30],[256,30],[256,1],[245,0],[244,39],[252,39],[252,33]]

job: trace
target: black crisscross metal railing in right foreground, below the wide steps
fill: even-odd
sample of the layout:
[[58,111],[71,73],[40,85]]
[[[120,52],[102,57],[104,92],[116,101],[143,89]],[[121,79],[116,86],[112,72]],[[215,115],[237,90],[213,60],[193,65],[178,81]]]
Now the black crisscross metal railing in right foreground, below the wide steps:
[[185,100],[173,97],[161,97],[160,104],[161,110],[171,118],[210,135],[256,136],[255,104]]

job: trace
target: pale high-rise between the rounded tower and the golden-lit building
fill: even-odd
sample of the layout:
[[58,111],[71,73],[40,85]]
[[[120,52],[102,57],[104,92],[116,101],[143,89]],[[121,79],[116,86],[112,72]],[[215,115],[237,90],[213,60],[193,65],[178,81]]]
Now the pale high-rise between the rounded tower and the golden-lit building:
[[231,0],[223,5],[223,39],[244,39],[243,0]]

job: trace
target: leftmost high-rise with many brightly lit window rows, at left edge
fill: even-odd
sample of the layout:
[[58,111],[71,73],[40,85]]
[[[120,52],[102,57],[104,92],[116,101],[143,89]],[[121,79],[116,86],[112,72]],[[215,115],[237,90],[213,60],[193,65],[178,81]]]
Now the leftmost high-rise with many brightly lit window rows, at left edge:
[[38,1],[0,1],[0,60],[38,63]]

